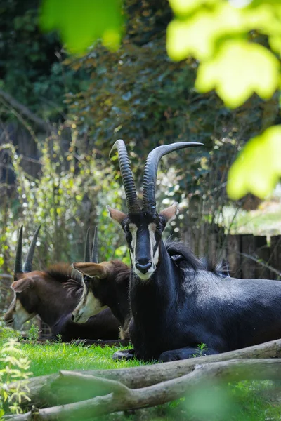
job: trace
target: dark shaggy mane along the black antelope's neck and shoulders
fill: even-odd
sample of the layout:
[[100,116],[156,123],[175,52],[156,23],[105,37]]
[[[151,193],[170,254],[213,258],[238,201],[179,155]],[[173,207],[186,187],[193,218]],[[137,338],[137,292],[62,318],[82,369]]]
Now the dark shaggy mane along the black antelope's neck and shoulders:
[[181,262],[186,262],[193,270],[207,270],[218,276],[229,276],[228,267],[226,261],[209,259],[209,258],[197,258],[195,254],[190,250],[187,244],[176,241],[166,241],[166,250],[169,256],[174,260],[176,265]]

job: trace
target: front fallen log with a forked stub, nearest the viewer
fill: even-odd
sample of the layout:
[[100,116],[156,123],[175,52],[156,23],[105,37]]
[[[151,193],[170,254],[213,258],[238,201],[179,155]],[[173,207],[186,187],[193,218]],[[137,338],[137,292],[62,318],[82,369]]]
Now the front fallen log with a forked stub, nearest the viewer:
[[[198,359],[199,360],[199,359]],[[197,361],[198,361],[197,360]],[[215,363],[195,364],[193,370],[156,385],[141,389],[130,389],[122,382],[108,380],[82,373],[60,372],[58,382],[79,384],[82,389],[97,389],[105,392],[105,396],[53,406],[40,410],[32,410],[22,415],[13,415],[6,419],[14,421],[41,420],[88,420],[93,417],[113,413],[119,410],[148,408],[157,406],[182,396],[188,396],[195,387],[204,382],[233,382],[240,380],[280,380],[281,359],[244,359],[219,361]]]

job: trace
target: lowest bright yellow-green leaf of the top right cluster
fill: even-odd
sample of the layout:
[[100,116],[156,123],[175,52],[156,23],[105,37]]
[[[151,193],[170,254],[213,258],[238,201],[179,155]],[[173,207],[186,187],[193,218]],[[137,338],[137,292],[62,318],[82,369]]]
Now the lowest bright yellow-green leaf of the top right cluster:
[[252,93],[268,99],[279,83],[280,63],[259,44],[226,41],[217,55],[203,62],[197,72],[198,91],[216,92],[228,107],[239,107]]

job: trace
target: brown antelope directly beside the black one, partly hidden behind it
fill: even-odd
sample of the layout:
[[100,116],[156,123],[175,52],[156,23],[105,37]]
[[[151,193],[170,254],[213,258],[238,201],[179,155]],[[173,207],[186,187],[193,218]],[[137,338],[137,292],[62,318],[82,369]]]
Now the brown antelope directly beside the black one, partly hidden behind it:
[[72,320],[77,323],[86,322],[90,316],[98,314],[104,307],[110,307],[121,325],[120,338],[129,339],[129,321],[131,319],[129,303],[129,277],[131,269],[119,260],[98,263],[97,228],[93,236],[93,248],[90,257],[89,230],[86,237],[89,250],[84,262],[73,263],[72,266],[84,275],[84,291],[76,309],[72,312]]

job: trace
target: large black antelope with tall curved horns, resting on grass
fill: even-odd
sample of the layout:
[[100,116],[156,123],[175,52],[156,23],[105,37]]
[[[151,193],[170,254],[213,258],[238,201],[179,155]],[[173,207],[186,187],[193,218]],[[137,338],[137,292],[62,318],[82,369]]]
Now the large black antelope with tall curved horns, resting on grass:
[[129,158],[122,140],[115,143],[126,192],[128,215],[108,207],[124,229],[131,255],[129,334],[133,350],[116,358],[171,361],[198,354],[227,352],[281,338],[281,283],[232,279],[209,269],[183,243],[162,241],[176,204],[157,213],[155,186],[159,159],[187,142],[150,152],[143,175],[143,209],[138,205]]

